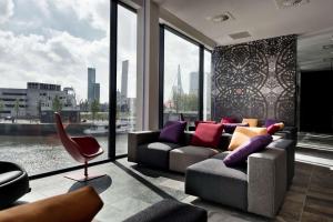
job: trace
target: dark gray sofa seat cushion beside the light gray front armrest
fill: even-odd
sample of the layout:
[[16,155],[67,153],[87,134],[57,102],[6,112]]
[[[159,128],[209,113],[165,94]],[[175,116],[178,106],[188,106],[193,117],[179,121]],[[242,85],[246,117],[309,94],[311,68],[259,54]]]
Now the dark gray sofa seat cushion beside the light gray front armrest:
[[246,211],[246,168],[228,168],[219,159],[195,163],[186,170],[185,193]]

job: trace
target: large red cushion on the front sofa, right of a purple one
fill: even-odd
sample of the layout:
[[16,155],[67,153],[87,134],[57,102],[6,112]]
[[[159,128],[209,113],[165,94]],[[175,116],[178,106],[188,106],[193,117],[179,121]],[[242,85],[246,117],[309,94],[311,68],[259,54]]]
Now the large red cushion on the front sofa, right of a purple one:
[[223,131],[223,124],[199,123],[192,137],[191,144],[218,148]]

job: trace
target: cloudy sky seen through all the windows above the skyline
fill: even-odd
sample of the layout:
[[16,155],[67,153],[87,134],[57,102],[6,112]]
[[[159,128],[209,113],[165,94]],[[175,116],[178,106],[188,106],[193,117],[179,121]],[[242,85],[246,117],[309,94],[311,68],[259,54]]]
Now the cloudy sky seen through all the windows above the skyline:
[[[0,0],[0,88],[26,89],[27,82],[73,87],[87,99],[88,67],[95,68],[101,102],[109,101],[109,0]],[[137,14],[118,8],[118,82],[129,60],[128,97],[137,87]],[[167,47],[168,46],[168,47]],[[181,65],[189,91],[190,72],[199,70],[199,48],[165,31],[164,94]]]

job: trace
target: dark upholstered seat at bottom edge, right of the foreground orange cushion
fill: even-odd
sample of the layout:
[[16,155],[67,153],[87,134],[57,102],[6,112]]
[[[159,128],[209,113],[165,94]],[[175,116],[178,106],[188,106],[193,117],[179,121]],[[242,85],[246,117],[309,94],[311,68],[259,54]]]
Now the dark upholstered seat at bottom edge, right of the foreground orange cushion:
[[148,209],[124,220],[124,222],[206,222],[204,209],[181,203],[175,200],[162,200]]

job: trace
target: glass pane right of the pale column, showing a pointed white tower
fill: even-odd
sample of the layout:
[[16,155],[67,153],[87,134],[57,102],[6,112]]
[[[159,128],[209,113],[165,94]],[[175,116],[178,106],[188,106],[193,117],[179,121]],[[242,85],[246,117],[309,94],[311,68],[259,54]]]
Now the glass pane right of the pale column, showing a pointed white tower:
[[163,120],[199,119],[199,47],[165,30]]

